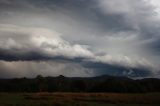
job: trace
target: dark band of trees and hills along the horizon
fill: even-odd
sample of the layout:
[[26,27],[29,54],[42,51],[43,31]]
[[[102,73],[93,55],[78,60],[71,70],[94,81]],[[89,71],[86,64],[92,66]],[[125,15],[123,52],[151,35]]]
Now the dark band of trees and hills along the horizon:
[[160,92],[160,79],[97,77],[43,77],[0,79],[0,92]]

